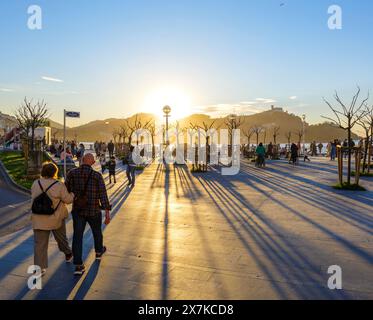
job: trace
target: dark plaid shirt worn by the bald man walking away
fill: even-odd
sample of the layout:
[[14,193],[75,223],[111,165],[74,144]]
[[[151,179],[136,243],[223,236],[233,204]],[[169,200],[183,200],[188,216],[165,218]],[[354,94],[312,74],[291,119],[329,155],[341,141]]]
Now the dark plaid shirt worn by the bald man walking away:
[[[89,178],[91,172],[92,174]],[[84,210],[79,210],[79,214],[92,217],[101,214],[101,210],[111,209],[105,182],[101,173],[93,170],[90,166],[83,164],[79,168],[73,169],[69,172],[65,183],[69,192],[73,192],[75,195],[80,195],[84,191],[88,178],[89,182],[86,190],[88,206]],[[73,211],[75,209],[74,206],[75,204],[73,204]]]

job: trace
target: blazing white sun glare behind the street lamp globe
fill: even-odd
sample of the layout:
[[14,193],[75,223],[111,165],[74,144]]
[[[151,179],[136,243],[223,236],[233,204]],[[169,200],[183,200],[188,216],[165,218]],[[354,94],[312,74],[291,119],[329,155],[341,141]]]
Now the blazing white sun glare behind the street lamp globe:
[[162,109],[166,105],[171,107],[172,120],[184,118],[191,113],[190,98],[175,88],[162,88],[150,93],[145,99],[144,109],[162,119]]

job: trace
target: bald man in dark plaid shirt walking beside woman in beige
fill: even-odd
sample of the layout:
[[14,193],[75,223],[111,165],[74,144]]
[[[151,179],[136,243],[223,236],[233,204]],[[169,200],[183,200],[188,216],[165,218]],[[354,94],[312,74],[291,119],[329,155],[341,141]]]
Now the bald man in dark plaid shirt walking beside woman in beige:
[[83,235],[87,223],[93,233],[96,259],[100,260],[106,252],[101,230],[101,210],[105,210],[105,224],[109,224],[111,206],[102,175],[92,169],[94,163],[94,156],[90,153],[86,154],[83,157],[82,165],[79,168],[71,170],[66,179],[66,186],[69,192],[73,192],[76,197],[83,197],[85,195],[87,199],[87,205],[84,208],[78,206],[77,198],[73,203],[73,255],[76,275],[82,275],[85,272],[82,255]]

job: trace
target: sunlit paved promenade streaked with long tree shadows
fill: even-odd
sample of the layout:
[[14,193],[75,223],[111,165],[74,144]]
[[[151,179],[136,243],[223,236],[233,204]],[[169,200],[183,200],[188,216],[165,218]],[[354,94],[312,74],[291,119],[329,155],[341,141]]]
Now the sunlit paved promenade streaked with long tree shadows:
[[[373,299],[372,180],[367,192],[337,192],[326,159],[241,169],[224,177],[153,164],[133,190],[119,169],[103,260],[86,232],[87,273],[74,278],[53,240],[43,289],[29,291],[32,231],[2,237],[0,298]],[[343,290],[327,288],[331,265],[342,267]]]

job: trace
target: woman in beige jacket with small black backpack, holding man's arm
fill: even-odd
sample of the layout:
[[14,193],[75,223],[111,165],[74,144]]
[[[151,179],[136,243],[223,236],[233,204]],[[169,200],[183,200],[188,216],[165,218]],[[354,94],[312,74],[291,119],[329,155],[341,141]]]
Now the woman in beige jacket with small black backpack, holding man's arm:
[[65,219],[68,217],[66,204],[74,200],[65,184],[57,180],[58,168],[54,163],[46,163],[41,170],[41,178],[31,187],[32,227],[34,230],[34,264],[44,275],[48,268],[48,243],[50,233],[65,254],[66,262],[72,261],[72,251],[66,236]]

